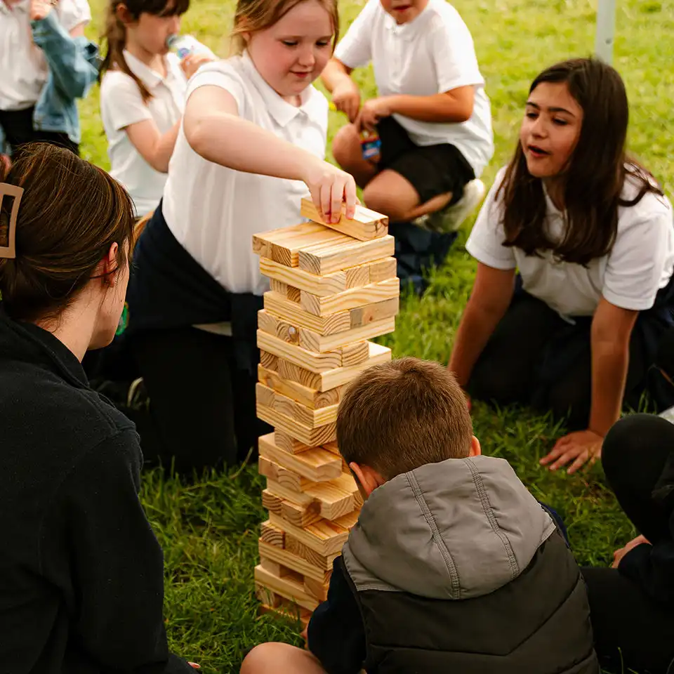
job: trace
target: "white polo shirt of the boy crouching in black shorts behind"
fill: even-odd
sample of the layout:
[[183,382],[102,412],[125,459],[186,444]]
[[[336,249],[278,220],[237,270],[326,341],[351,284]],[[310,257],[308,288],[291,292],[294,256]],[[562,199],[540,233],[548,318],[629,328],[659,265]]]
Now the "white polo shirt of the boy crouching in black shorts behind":
[[491,106],[473,37],[454,7],[429,0],[414,20],[397,25],[379,0],[369,0],[337,45],[335,57],[350,68],[371,61],[380,96],[428,96],[473,85],[475,105],[468,121],[435,124],[393,117],[416,145],[455,145],[480,176],[494,154]]

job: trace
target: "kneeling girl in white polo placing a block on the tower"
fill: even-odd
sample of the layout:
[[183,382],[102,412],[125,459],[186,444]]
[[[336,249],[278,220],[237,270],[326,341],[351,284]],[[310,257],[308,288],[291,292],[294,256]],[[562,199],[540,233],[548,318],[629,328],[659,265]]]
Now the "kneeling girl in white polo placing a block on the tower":
[[[351,176],[324,161],[328,103],[312,85],[333,51],[336,0],[239,0],[241,53],[202,66],[161,204],[134,251],[128,329],[150,396],[144,454],[180,469],[245,458],[261,432],[256,232],[300,222],[311,197],[337,220]],[[154,439],[154,440],[153,440]]]

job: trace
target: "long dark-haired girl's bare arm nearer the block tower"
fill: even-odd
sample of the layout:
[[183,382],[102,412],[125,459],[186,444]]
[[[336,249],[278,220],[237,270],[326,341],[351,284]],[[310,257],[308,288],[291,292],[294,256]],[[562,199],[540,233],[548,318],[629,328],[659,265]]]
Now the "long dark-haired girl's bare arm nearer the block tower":
[[473,291],[461,317],[449,359],[449,369],[462,388],[468,384],[473,366],[508,310],[514,292],[514,269],[501,270],[477,264]]

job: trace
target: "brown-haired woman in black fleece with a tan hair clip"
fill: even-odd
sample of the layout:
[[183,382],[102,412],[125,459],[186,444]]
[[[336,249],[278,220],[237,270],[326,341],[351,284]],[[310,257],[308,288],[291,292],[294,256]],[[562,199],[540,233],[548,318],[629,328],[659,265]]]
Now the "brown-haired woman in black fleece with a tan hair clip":
[[[105,171],[50,145],[26,146],[4,180],[2,668],[190,672],[166,645],[161,548],[138,499],[138,435],[81,366],[117,329],[133,204]],[[17,187],[19,203],[6,196]]]

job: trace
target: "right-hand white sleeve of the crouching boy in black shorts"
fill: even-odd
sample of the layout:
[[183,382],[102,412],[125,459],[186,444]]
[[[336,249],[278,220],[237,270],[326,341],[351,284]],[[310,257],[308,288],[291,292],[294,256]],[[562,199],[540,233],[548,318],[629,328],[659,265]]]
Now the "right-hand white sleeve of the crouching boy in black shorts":
[[483,85],[475,55],[473,36],[458,14],[456,17],[438,15],[430,34],[437,91],[451,91],[460,86]]

